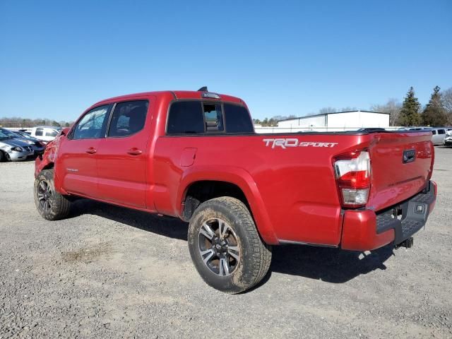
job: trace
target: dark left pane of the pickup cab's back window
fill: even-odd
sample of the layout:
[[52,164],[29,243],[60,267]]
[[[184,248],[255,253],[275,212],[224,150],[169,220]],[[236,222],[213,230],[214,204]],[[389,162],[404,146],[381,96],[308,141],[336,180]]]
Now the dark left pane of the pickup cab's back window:
[[168,134],[204,133],[203,109],[199,101],[173,102],[169,109]]

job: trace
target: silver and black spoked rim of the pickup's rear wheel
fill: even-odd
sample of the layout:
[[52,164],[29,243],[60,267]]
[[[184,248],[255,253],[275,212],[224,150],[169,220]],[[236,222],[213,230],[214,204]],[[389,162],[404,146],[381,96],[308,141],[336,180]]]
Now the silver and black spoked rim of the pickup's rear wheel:
[[208,269],[225,277],[234,273],[240,262],[237,235],[232,227],[219,218],[203,222],[199,229],[199,254]]

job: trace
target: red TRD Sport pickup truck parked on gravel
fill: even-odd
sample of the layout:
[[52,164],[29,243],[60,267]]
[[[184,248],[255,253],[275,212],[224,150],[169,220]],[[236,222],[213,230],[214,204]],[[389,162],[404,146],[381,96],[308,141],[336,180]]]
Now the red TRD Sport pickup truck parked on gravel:
[[91,198],[189,222],[208,285],[237,293],[271,245],[409,246],[436,201],[432,133],[364,129],[257,134],[243,100],[164,91],[97,102],[35,165],[47,220]]

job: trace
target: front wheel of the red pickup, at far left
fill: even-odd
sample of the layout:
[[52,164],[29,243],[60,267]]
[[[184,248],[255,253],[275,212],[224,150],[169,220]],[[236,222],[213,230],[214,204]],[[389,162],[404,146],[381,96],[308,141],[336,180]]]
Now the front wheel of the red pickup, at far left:
[[35,205],[42,218],[60,220],[66,218],[71,201],[55,191],[53,169],[44,169],[35,179]]

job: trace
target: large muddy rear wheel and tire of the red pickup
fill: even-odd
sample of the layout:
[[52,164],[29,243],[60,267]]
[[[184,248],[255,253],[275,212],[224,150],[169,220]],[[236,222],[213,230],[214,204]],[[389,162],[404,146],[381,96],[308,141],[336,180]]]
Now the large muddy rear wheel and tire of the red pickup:
[[[204,235],[206,224],[210,225],[208,237]],[[220,237],[222,230],[229,232],[224,239]],[[270,268],[271,247],[262,242],[248,208],[236,198],[223,196],[201,203],[191,217],[188,241],[191,259],[201,278],[222,292],[249,290]]]

